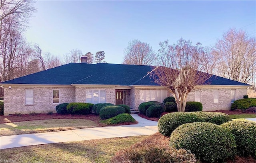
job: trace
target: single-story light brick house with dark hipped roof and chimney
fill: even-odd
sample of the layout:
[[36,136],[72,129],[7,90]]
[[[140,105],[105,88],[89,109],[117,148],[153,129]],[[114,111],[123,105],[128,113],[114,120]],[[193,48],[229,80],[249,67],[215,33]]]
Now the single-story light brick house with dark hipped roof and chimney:
[[[171,96],[149,77],[150,66],[81,61],[2,82],[4,115],[46,113],[64,102],[109,102],[136,109],[142,102],[163,102]],[[188,95],[188,101],[201,102],[204,111],[230,110],[231,102],[243,98],[250,86],[215,75],[206,83]]]

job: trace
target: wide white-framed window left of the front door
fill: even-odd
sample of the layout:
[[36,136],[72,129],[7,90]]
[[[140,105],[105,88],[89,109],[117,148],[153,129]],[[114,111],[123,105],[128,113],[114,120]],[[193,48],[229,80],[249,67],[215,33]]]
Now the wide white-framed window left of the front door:
[[86,89],[86,103],[106,103],[106,89]]

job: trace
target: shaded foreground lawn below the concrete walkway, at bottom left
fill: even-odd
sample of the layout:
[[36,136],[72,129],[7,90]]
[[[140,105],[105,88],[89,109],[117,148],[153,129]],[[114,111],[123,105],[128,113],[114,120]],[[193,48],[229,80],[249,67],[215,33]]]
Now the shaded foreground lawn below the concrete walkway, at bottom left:
[[120,137],[1,149],[1,162],[109,163],[112,156],[149,136]]

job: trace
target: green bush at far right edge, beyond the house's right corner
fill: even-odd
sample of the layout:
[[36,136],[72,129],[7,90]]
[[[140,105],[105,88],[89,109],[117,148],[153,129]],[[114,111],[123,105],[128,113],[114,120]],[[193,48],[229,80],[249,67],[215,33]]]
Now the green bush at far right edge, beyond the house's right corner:
[[234,101],[231,105],[231,110],[236,110],[236,109],[245,110],[252,106],[256,106],[256,98],[243,98],[243,99]]

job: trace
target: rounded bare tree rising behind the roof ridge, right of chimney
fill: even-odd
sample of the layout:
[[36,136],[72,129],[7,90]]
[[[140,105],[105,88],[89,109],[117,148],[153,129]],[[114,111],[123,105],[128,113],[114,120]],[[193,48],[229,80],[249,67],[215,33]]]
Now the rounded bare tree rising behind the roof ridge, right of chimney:
[[134,39],[124,49],[123,64],[128,65],[154,65],[156,54],[148,43]]

